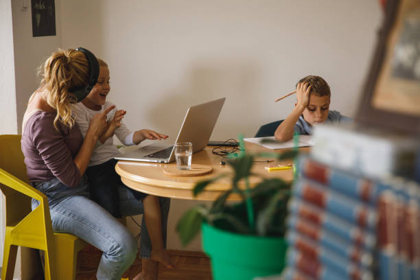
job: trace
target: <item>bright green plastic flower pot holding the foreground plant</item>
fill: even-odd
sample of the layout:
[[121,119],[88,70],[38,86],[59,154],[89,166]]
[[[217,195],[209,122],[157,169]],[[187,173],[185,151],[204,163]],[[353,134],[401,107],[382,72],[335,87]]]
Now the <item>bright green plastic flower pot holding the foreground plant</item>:
[[207,223],[202,223],[201,229],[214,280],[253,280],[283,270],[287,250],[284,238],[241,235]]

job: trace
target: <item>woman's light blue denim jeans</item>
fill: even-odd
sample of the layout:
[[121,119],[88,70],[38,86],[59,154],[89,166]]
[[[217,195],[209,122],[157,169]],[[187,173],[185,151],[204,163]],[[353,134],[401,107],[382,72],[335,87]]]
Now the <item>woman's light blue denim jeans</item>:
[[[53,230],[71,233],[104,252],[97,269],[97,279],[121,279],[121,275],[135,260],[137,241],[108,211],[89,199],[89,183],[83,176],[78,187],[69,188],[57,178],[32,183],[43,192],[49,203]],[[138,215],[143,213],[143,205],[131,191],[119,188],[121,214]],[[166,246],[167,215],[170,209],[169,198],[159,198],[162,213],[163,242]],[[38,200],[32,200],[32,209],[38,207]],[[151,242],[142,219],[140,256],[150,257]]]

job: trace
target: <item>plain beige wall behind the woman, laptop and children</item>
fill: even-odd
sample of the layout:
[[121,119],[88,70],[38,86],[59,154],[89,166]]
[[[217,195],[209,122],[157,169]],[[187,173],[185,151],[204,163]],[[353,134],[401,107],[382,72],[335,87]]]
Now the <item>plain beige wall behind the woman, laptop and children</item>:
[[[309,74],[329,82],[331,108],[353,116],[382,19],[378,1],[365,0],[56,0],[56,13],[58,36],[32,38],[30,12],[14,12],[18,119],[39,62],[84,46],[108,62],[109,98],[126,124],[172,140],[187,106],[222,96],[211,138],[252,137],[286,117],[294,98],[273,101]],[[173,200],[169,248],[179,248],[174,224],[191,204]]]

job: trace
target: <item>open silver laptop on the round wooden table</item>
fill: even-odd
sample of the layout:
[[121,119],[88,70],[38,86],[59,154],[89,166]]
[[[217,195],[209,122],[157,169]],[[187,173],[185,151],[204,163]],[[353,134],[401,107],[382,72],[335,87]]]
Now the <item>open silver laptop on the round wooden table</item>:
[[[191,142],[193,152],[204,149],[218,120],[224,100],[226,100],[226,97],[189,107],[174,143]],[[174,145],[159,143],[146,145],[137,150],[115,156],[115,159],[171,163],[175,161]]]

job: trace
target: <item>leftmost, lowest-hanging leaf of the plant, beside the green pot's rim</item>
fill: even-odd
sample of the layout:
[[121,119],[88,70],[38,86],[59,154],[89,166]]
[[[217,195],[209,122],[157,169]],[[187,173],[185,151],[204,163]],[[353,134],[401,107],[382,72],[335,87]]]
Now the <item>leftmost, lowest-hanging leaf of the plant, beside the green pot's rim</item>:
[[180,242],[187,245],[200,231],[201,222],[207,215],[207,208],[204,205],[197,205],[185,212],[176,224]]

